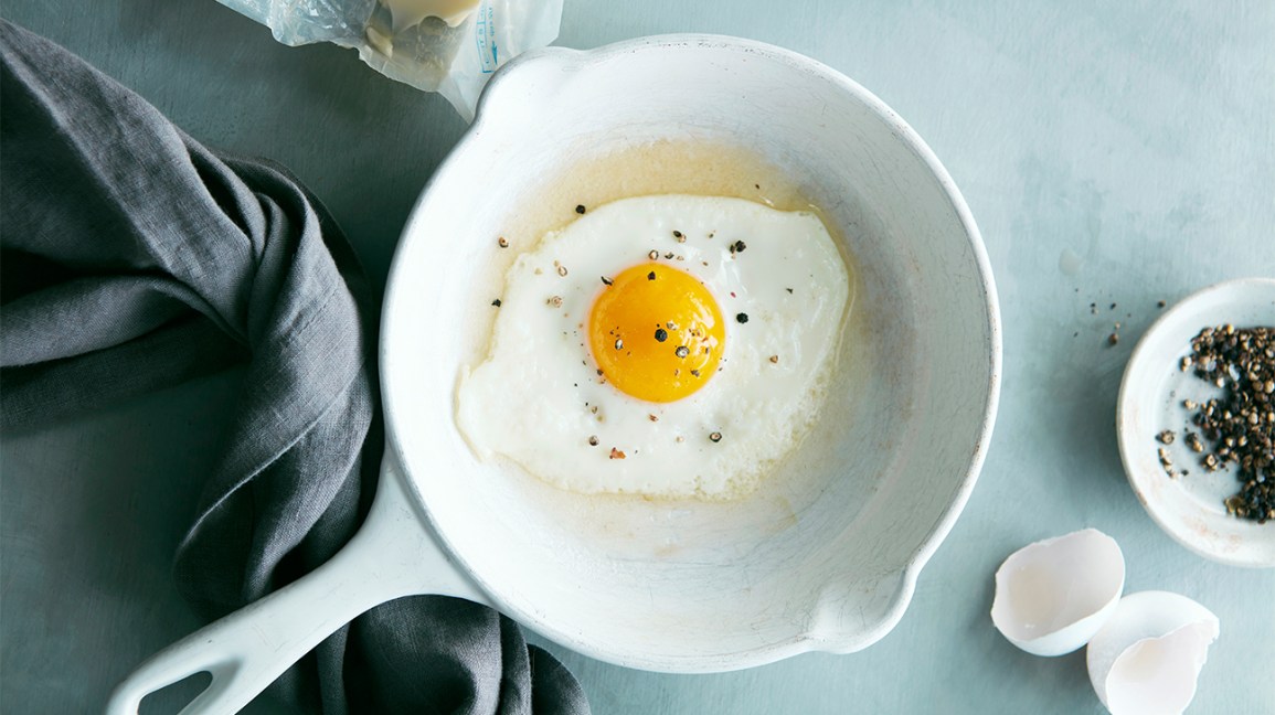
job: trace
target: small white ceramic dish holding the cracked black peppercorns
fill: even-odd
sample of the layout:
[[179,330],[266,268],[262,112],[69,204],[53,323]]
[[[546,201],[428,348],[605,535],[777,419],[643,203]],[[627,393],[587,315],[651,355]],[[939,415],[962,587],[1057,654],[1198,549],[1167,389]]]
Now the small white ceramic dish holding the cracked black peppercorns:
[[[1125,368],[1116,426],[1128,483],[1151,519],[1188,549],[1233,566],[1275,566],[1275,524],[1237,519],[1223,503],[1235,492],[1234,468],[1209,473],[1182,438],[1191,415],[1183,400],[1204,401],[1220,390],[1179,370],[1191,339],[1205,326],[1275,325],[1275,279],[1246,278],[1205,288],[1160,316],[1133,349]],[[1188,427],[1190,426],[1190,427]],[[1162,445],[1156,435],[1177,438]],[[1174,469],[1169,478],[1159,460],[1164,447]]]

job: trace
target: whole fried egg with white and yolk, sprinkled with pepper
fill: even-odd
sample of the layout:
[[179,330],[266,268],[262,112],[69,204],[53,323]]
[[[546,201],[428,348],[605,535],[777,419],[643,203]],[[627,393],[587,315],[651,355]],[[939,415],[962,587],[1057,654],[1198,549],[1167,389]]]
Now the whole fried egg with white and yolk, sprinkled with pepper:
[[743,199],[578,210],[509,269],[462,433],[574,492],[751,492],[824,401],[850,298],[836,243]]

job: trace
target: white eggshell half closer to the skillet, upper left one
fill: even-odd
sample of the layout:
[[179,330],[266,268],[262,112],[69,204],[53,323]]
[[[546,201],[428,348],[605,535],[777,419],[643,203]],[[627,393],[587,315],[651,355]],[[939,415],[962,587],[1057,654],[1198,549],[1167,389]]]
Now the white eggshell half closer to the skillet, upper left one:
[[1125,554],[1116,539],[1082,529],[1028,544],[996,571],[992,623],[1034,655],[1082,647],[1125,590]]

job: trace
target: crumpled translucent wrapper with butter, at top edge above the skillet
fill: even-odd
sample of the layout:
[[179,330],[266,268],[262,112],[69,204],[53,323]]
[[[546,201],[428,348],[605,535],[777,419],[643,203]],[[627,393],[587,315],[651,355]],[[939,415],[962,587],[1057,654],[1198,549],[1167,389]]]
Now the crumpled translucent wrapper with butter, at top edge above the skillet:
[[385,76],[442,94],[465,121],[491,74],[552,42],[562,17],[562,0],[218,1],[284,45],[353,47]]

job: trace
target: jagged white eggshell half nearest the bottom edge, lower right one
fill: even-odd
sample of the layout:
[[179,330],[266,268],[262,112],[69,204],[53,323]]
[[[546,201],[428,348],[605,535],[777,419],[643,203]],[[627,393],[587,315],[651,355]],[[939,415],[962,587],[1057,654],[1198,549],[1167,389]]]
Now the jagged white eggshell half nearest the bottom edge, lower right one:
[[1113,715],[1182,712],[1218,633],[1218,617],[1184,595],[1130,594],[1089,642],[1089,681]]

